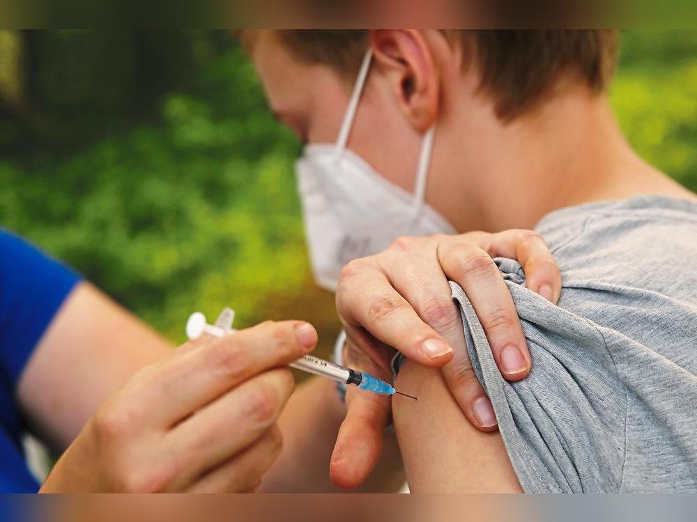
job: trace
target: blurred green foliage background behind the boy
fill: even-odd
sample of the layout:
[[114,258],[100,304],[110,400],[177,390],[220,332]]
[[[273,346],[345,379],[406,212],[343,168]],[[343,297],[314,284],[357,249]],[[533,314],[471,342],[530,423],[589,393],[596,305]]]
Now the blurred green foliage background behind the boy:
[[[697,31],[622,33],[612,99],[697,191]],[[0,226],[174,342],[193,310],[339,326],[312,282],[293,136],[224,31],[0,31]]]

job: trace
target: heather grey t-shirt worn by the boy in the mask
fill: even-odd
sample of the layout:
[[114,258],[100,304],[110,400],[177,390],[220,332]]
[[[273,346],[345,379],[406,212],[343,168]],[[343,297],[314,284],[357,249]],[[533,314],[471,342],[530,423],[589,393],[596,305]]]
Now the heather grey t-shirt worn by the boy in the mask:
[[505,381],[467,297],[470,358],[526,492],[697,491],[697,203],[641,196],[553,212],[537,228],[558,306],[497,260],[533,358]]

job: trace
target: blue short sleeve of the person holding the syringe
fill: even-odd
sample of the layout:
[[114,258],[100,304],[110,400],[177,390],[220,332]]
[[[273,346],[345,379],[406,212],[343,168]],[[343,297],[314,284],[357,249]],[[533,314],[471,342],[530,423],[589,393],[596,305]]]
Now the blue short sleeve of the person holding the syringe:
[[16,386],[33,349],[80,280],[75,271],[0,229],[0,372]]

